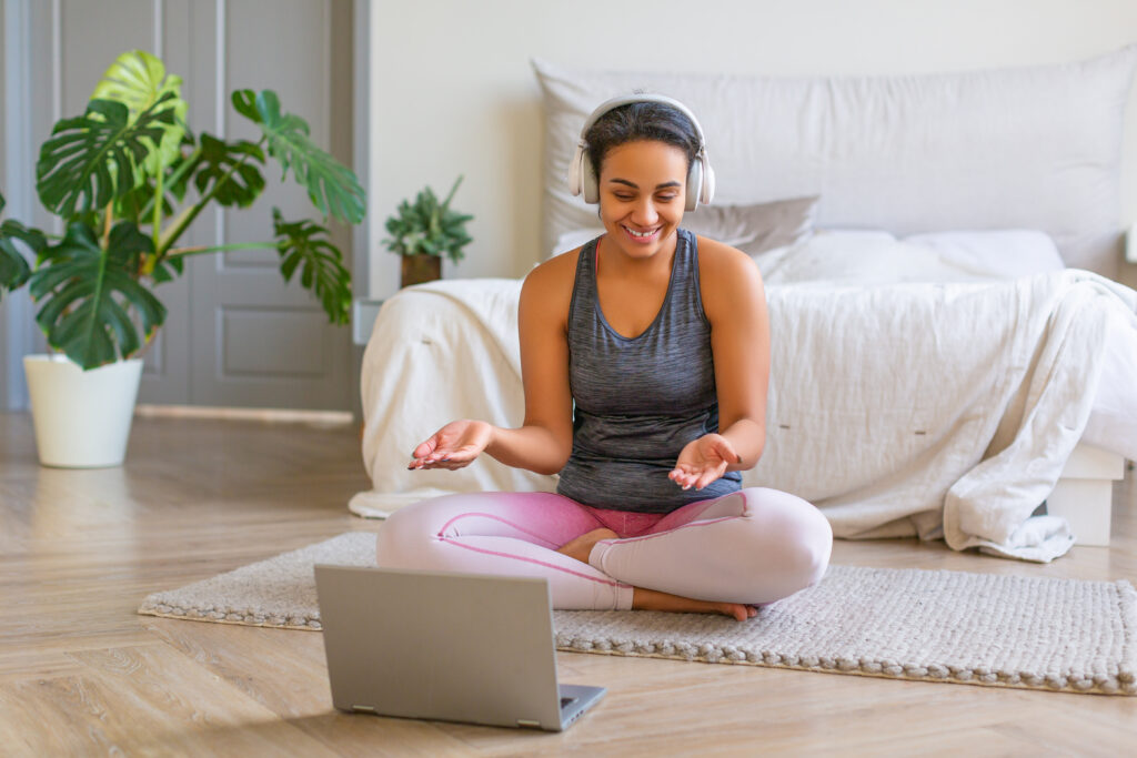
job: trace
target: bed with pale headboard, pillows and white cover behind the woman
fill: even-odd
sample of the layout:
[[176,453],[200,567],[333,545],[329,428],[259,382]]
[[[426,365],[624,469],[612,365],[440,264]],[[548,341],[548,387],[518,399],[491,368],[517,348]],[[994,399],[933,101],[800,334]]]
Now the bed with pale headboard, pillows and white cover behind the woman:
[[[548,255],[597,234],[564,177],[580,125],[637,88],[689,105],[719,191],[684,226],[758,263],[766,452],[744,476],[848,539],[943,539],[1048,561],[1109,541],[1137,458],[1137,293],[1118,284],[1122,117],[1137,45],[1069,65],[880,77],[592,72],[534,61]],[[425,497],[553,490],[484,458],[407,472],[447,420],[516,425],[520,280],[401,291],[364,356],[382,517]]]

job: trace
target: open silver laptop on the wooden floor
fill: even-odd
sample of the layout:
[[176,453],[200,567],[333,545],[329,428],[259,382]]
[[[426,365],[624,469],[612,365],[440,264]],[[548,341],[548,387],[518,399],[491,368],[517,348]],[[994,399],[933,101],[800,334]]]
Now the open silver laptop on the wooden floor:
[[559,732],[605,689],[557,684],[543,578],[316,566],[340,710]]

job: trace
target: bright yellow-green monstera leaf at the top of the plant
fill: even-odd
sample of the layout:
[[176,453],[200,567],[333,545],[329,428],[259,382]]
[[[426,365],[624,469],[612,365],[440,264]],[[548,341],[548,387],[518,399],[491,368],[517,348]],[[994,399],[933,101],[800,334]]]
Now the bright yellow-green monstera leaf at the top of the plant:
[[142,50],[118,56],[96,85],[91,99],[123,103],[131,123],[160,101],[161,109],[172,110],[174,118],[163,126],[158,150],[151,151],[146,160],[147,174],[156,176],[161,166],[168,166],[180,155],[190,107],[182,99],[182,77],[167,75],[166,66],[158,58]]

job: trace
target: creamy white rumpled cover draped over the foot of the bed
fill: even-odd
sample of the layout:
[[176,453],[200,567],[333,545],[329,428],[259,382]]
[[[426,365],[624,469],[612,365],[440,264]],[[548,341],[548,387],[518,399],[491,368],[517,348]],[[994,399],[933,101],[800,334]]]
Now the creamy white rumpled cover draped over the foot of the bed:
[[[459,472],[406,469],[414,445],[450,419],[521,423],[520,290],[515,280],[443,281],[387,302],[363,366],[374,489],[352,511],[555,488],[555,477],[489,457]],[[767,298],[767,441],[744,484],[806,498],[837,536],[943,536],[957,550],[1051,560],[1072,544],[1069,528],[1030,514],[1084,432],[1137,458],[1132,290],[1068,269],[1012,282],[770,286]]]

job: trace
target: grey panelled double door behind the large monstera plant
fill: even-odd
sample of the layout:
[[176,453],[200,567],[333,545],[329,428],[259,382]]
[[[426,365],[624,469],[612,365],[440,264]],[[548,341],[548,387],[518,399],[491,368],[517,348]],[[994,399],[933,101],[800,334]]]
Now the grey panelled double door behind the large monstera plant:
[[[254,138],[229,95],[239,88],[272,89],[283,110],[308,122],[317,144],[351,165],[351,0],[23,2],[38,52],[49,51],[35,56],[47,67],[28,74],[51,95],[44,98],[48,113],[35,117],[36,145],[51,120],[82,113],[115,57],[140,48],[185,81],[196,132]],[[207,210],[183,241],[268,241],[274,206],[289,219],[313,217],[291,177],[282,183],[272,163],[263,173],[268,189],[252,208]],[[350,268],[350,232],[337,228],[333,236]],[[354,407],[349,330],[331,326],[306,291],[287,286],[276,259],[272,248],[197,256],[185,276],[159,288],[169,315],[146,355],[140,402]]]

